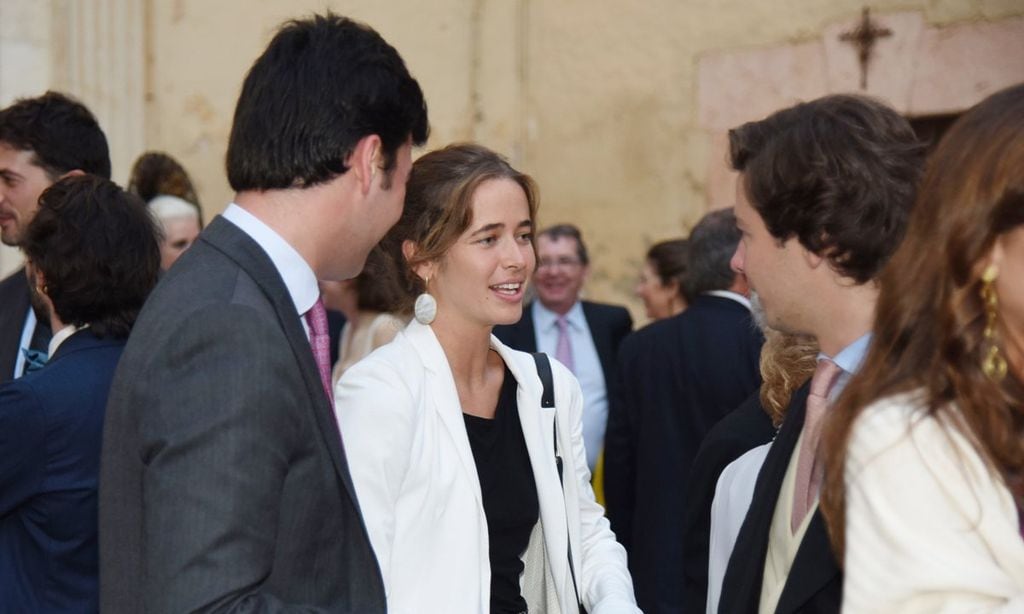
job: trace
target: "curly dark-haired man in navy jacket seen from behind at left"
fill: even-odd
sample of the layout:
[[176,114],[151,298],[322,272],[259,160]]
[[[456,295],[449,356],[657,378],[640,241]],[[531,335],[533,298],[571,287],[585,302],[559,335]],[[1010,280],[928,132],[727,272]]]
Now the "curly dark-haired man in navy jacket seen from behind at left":
[[157,282],[157,230],[141,201],[85,175],[43,192],[22,246],[54,335],[45,366],[0,386],[0,612],[95,612],[103,413]]

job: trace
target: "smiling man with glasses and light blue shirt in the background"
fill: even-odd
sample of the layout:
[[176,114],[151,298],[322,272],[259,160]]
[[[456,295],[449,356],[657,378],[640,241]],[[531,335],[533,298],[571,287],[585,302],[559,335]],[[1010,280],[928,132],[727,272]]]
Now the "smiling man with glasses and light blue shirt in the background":
[[614,396],[615,356],[633,330],[633,318],[625,307],[580,299],[589,273],[590,257],[580,229],[571,224],[545,228],[537,235],[538,300],[523,308],[518,322],[495,326],[495,336],[523,352],[547,352],[575,375],[583,389],[587,466],[593,472]]

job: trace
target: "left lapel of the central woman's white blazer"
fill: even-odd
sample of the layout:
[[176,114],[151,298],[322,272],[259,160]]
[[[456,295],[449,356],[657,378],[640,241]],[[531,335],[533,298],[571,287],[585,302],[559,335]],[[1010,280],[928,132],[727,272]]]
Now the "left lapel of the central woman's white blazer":
[[420,355],[428,372],[424,384],[427,387],[427,394],[424,396],[428,399],[427,402],[433,405],[434,411],[440,416],[441,424],[452,438],[462,468],[470,478],[473,495],[482,514],[483,496],[480,494],[480,478],[476,474],[476,462],[473,459],[473,449],[469,447],[469,436],[466,434],[459,391],[456,390],[455,377],[452,375],[452,367],[449,365],[444,350],[433,330],[415,319],[406,327],[406,337]]

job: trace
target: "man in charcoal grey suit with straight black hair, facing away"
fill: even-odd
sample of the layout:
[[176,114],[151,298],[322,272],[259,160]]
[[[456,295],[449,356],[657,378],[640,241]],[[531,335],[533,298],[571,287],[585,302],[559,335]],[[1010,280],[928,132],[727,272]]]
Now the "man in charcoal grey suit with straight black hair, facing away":
[[234,202],[151,296],[115,377],[103,612],[385,611],[316,280],[355,276],[397,221],[427,131],[416,80],[362,25],[288,23],[256,60]]

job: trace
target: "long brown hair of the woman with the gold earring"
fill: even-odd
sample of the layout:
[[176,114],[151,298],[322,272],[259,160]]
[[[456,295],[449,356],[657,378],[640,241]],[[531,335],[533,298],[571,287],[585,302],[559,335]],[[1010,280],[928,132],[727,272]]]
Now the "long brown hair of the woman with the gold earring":
[[926,415],[948,418],[943,424],[972,441],[1018,506],[1024,501],[1022,365],[1000,382],[982,371],[979,296],[996,239],[1021,224],[1024,85],[986,98],[950,128],[929,161],[906,239],[881,275],[871,348],[822,437],[821,510],[840,561],[846,445],[857,416],[884,397],[920,391]]

